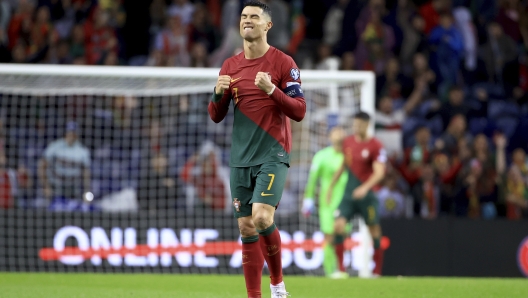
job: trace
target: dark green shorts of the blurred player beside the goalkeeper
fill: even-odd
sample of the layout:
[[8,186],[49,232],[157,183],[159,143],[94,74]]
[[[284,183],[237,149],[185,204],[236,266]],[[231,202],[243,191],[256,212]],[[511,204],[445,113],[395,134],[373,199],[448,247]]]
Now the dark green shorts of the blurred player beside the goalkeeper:
[[361,182],[349,175],[343,200],[339,204],[335,217],[344,217],[350,221],[354,215],[359,214],[365,220],[368,226],[379,224],[379,202],[374,192],[369,191],[367,195],[360,200],[355,200],[352,197],[354,189],[361,185]]

